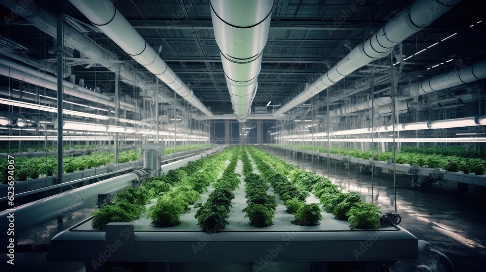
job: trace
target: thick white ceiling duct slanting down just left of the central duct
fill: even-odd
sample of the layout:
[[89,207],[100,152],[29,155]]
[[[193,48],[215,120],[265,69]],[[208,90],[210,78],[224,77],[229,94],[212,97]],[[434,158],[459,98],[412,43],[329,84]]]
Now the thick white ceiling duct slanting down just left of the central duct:
[[128,55],[147,68],[160,80],[173,89],[209,117],[213,113],[194,95],[191,89],[177,77],[174,71],[160,58],[150,45],[115,8],[111,1],[69,0],[88,20],[104,32]]

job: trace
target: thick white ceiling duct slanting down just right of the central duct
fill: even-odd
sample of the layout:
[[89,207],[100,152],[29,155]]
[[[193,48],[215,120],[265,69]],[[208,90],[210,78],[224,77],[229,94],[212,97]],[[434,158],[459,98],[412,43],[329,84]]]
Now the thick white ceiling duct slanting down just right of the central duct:
[[[410,8],[399,13],[393,21],[386,23],[371,38],[354,48],[327,73],[305,88],[303,92],[276,110],[274,116],[287,112],[327,87],[336,84],[356,69],[386,55],[395,45],[434,22],[460,1],[416,0]],[[431,16],[432,12],[433,16]]]

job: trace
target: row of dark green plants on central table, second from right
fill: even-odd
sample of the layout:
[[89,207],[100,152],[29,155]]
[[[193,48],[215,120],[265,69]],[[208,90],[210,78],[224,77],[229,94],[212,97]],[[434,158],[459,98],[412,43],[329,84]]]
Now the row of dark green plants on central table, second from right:
[[270,181],[280,200],[284,201],[286,211],[294,215],[295,219],[292,223],[303,226],[319,224],[322,219],[320,207],[315,203],[307,204],[305,202],[310,194],[291,184],[284,175],[272,168],[258,150],[249,148],[249,152],[260,173],[267,181]]

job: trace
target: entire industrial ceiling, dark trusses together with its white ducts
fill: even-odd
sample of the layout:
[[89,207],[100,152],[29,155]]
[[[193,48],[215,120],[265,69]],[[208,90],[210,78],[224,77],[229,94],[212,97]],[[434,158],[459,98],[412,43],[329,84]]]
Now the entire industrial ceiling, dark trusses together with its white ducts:
[[[91,121],[175,120],[175,107],[195,120],[343,130],[366,127],[371,107],[375,126],[394,111],[399,123],[485,114],[486,23],[472,0],[112,2],[1,1],[4,115],[18,100],[55,107],[59,17],[65,109]],[[144,113],[154,102],[158,114]],[[38,110],[22,114],[49,118]]]

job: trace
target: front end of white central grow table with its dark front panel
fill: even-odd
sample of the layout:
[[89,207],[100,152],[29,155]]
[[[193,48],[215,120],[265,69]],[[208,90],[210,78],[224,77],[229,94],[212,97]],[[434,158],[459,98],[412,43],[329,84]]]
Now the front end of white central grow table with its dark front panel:
[[91,262],[109,255],[109,261],[260,261],[273,253],[275,261],[370,261],[418,255],[417,238],[398,226],[351,231],[347,221],[325,212],[320,225],[296,226],[281,203],[273,226],[254,227],[243,218],[243,199],[236,197],[229,225],[220,233],[200,230],[194,219],[197,209],[181,215],[181,224],[170,228],[150,226],[145,212],[133,223],[110,223],[107,231],[100,231],[91,227],[91,217],[52,239],[50,259]]

